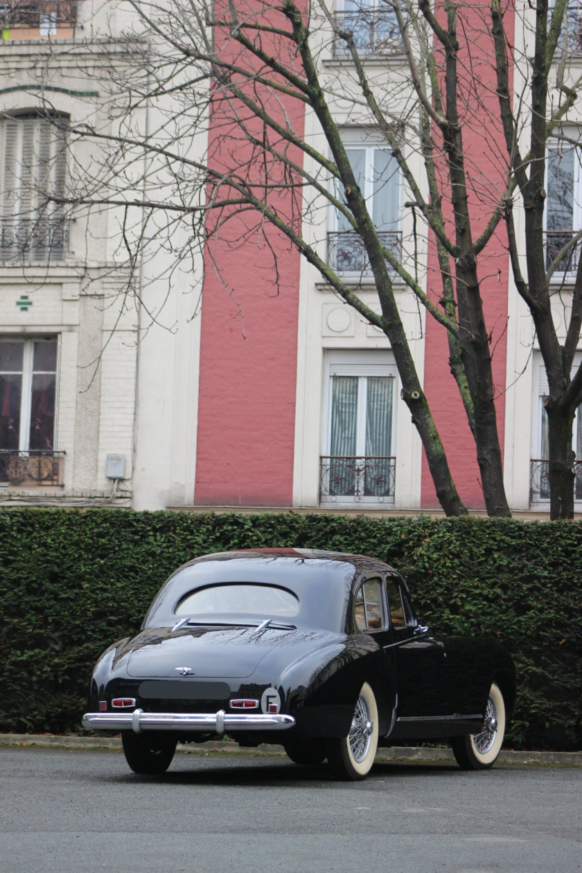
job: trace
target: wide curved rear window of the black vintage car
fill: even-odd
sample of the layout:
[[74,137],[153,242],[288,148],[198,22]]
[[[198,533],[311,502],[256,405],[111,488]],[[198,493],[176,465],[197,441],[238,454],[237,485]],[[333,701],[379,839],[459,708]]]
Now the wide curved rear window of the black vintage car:
[[299,600],[286,588],[252,583],[210,585],[182,597],[175,615],[264,615],[268,618],[298,615]]

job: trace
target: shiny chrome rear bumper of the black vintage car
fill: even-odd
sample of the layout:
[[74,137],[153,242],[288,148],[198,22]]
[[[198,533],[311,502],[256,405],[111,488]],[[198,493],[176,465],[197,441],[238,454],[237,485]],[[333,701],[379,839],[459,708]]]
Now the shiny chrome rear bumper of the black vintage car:
[[284,731],[295,724],[291,715],[217,712],[86,712],[81,724],[89,731]]

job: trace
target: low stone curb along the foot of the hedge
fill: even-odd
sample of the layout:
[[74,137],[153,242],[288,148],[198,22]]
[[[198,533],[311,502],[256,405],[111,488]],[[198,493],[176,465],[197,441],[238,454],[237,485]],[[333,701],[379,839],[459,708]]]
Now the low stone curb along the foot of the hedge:
[[[0,746],[34,746],[52,749],[109,749],[120,751],[118,737],[55,736],[44,733],[0,733]],[[229,753],[238,755],[284,755],[283,746],[262,743],[256,749],[241,748],[234,741],[207,742],[199,746],[178,745],[178,752],[188,754]],[[448,748],[435,749],[424,746],[387,746],[376,755],[379,761],[419,761],[421,763],[454,763],[453,753]],[[545,766],[582,766],[582,752],[513,752],[499,754],[500,764],[541,764]]]

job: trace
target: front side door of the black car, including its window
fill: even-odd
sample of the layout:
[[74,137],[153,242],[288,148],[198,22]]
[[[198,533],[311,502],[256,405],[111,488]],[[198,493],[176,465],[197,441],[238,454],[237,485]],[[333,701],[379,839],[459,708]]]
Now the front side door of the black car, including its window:
[[387,574],[385,592],[391,635],[386,644],[394,654],[398,706],[397,725],[432,721],[450,715],[448,711],[447,654],[444,643],[430,636],[417,621],[407,588],[397,575]]

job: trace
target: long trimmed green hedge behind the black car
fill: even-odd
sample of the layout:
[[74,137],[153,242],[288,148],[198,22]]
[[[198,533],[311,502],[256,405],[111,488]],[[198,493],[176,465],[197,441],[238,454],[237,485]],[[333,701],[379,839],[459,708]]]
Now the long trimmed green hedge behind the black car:
[[93,663],[168,574],[253,546],[387,560],[437,634],[495,636],[514,656],[508,745],[582,748],[580,524],[294,512],[0,511],[0,731],[78,731]]

